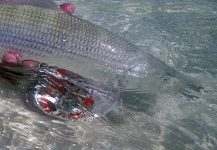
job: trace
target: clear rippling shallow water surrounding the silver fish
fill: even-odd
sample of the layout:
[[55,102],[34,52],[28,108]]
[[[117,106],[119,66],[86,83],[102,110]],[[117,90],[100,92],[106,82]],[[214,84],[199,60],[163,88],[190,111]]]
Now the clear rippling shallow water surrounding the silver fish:
[[217,2],[72,3],[75,15],[124,36],[204,89],[183,94],[163,86],[152,92],[156,85],[128,77],[138,90],[123,90],[122,109],[91,122],[43,116],[17,99],[16,87],[1,90],[0,149],[217,149]]

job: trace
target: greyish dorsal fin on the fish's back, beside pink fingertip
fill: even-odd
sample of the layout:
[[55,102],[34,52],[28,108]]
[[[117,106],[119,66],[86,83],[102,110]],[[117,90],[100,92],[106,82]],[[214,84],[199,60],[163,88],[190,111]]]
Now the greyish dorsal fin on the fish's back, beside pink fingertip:
[[61,10],[52,0],[0,0],[1,4],[31,5],[57,11]]

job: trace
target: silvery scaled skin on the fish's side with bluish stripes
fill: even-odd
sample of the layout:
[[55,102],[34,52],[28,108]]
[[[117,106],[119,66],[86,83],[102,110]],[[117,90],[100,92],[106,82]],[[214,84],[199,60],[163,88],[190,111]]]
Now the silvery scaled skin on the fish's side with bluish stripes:
[[0,46],[41,57],[43,62],[81,58],[123,71],[162,71],[160,61],[141,53],[134,44],[66,13],[28,5],[0,5],[0,14]]

